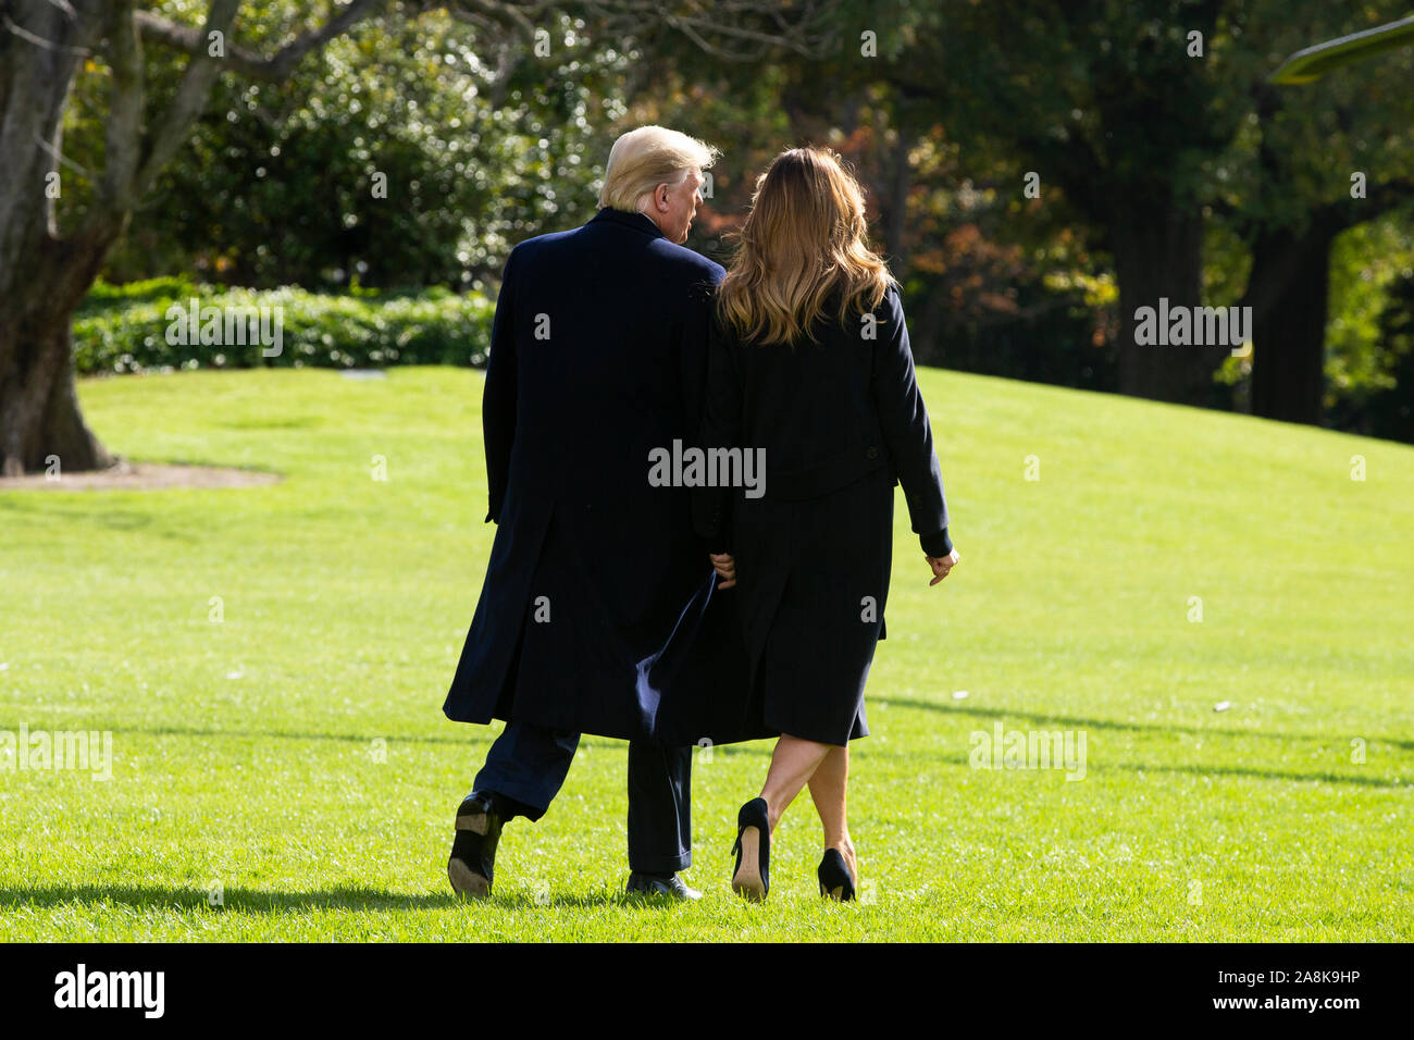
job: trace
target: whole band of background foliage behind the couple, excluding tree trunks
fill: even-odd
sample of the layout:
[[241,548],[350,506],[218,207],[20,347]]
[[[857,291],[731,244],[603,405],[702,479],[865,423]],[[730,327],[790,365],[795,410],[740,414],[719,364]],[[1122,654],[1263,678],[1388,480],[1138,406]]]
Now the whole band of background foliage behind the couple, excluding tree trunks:
[[[204,6],[167,0],[161,8],[197,24]],[[1285,54],[1387,21],[1400,0],[1355,8],[850,0],[823,8],[836,30],[823,59],[782,52],[749,62],[725,61],[652,18],[631,38],[564,10],[537,20],[550,31],[549,57],[525,41],[502,51],[484,25],[395,0],[283,83],[222,76],[107,276],[184,270],[202,283],[263,289],[492,293],[515,242],[592,214],[615,133],[662,122],[725,151],[691,248],[728,260],[723,238],[756,173],[782,147],[830,143],[867,187],[875,243],[905,282],[921,359],[1113,389],[1123,316],[1113,291],[1086,299],[1082,287],[1113,290],[1117,209],[1137,208],[1134,219],[1152,226],[1202,211],[1205,299],[1222,306],[1241,299],[1250,246],[1264,231],[1299,229],[1336,202],[1350,204],[1352,222],[1377,219],[1414,184],[1414,50],[1305,88],[1266,83]],[[293,0],[247,4],[238,34],[269,52],[325,17],[321,6]],[[1193,30],[1203,33],[1202,57],[1189,54]],[[877,57],[860,54],[865,31],[878,37]],[[182,61],[158,47],[147,59],[147,95],[160,103]],[[74,166],[62,170],[62,224],[82,215],[81,171],[102,170],[106,105],[107,76],[90,61],[65,122]],[[1041,198],[1019,191],[1028,171],[1039,175]],[[1353,171],[1367,174],[1369,200],[1348,198]],[[373,194],[379,175],[386,198]],[[1393,392],[1403,362],[1381,357],[1377,330],[1393,267],[1370,259],[1367,277],[1366,260],[1340,241],[1328,406],[1345,415],[1346,405]],[[182,284],[173,294],[188,293]],[[100,300],[96,293],[81,317]],[[144,321],[89,327],[82,371],[115,371],[124,354],[139,366],[214,364],[173,361],[160,340],[147,342]],[[372,361],[379,331],[361,317],[331,313],[314,324],[320,331],[301,341],[312,354],[287,349],[276,364],[335,364],[331,355],[387,364],[386,352]],[[428,345],[413,357],[444,354]],[[1250,364],[1227,359],[1222,369],[1239,399]]]

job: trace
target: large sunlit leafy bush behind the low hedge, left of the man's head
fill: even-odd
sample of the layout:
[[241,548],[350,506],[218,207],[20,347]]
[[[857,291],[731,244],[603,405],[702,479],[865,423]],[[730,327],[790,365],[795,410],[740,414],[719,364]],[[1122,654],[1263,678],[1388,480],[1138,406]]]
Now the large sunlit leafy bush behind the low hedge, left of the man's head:
[[[518,42],[501,75],[498,37],[419,7],[390,4],[280,83],[222,78],[106,276],[484,289],[527,233],[592,215],[629,55],[546,14],[550,54]],[[322,17],[273,3],[240,28],[271,51]],[[147,88],[163,96],[181,65],[153,51]],[[66,130],[88,168],[102,166],[103,83],[98,68],[79,76]]]

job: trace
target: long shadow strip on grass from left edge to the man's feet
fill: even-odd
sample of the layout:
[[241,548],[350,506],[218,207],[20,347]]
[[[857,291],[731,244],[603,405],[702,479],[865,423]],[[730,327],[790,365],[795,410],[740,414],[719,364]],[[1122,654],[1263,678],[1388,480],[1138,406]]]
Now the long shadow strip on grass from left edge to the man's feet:
[[211,906],[205,889],[160,887],[146,884],[45,884],[33,889],[0,887],[0,908],[64,907],[71,904],[117,903],[134,910],[206,910],[214,914],[291,914],[311,910],[554,910],[624,907],[626,910],[662,910],[673,903],[658,899],[598,893],[588,896],[550,894],[492,894],[488,900],[461,900],[454,893],[392,893],[359,886],[334,886],[315,891],[266,891],[259,889],[225,889],[222,906]]

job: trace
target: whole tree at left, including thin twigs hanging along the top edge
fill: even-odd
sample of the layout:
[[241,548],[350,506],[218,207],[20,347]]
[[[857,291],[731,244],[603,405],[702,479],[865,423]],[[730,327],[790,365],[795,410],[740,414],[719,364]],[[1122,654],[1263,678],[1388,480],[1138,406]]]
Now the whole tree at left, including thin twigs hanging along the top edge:
[[[479,58],[496,69],[493,83],[503,85],[537,45],[553,44],[563,11],[628,48],[670,33],[704,54],[759,59],[817,55],[831,38],[822,14],[836,3],[455,0],[399,7],[447,7],[484,30]],[[279,82],[305,55],[387,6],[349,0],[262,54],[236,40],[239,0],[211,0],[199,25],[134,0],[0,0],[0,474],[38,470],[51,457],[69,471],[112,461],[79,410],[72,316],[158,173],[192,136],[218,76]],[[174,89],[150,89],[148,47],[181,55]],[[107,74],[102,167],[92,171],[64,156],[65,110],[75,76],[89,62]],[[61,215],[61,200],[81,194],[65,187],[75,175],[90,181],[85,205]]]

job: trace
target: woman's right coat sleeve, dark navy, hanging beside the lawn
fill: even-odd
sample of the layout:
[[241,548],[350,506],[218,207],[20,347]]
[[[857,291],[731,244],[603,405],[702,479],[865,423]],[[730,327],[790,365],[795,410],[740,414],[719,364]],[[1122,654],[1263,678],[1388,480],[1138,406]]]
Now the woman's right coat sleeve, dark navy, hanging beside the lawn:
[[908,341],[904,303],[898,289],[891,287],[884,297],[885,321],[874,351],[871,393],[884,430],[884,440],[904,485],[908,515],[913,533],[919,535],[923,552],[946,556],[953,550],[947,536],[947,499],[943,497],[943,475],[933,451],[933,430],[928,422],[928,408],[918,391],[913,372],[913,351]]

